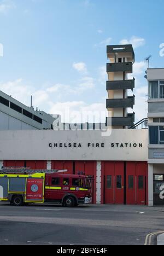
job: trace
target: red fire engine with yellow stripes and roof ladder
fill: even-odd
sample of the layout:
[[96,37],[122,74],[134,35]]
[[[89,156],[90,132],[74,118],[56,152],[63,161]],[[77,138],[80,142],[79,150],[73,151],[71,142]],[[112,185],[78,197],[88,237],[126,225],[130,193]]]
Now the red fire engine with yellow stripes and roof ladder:
[[91,180],[69,175],[67,170],[29,170],[6,167],[0,170],[0,201],[22,206],[26,203],[61,203],[65,207],[92,203]]

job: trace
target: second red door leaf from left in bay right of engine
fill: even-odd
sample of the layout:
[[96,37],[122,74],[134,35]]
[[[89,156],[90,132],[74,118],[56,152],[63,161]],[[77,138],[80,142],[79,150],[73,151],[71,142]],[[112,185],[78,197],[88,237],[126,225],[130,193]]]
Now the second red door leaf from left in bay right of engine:
[[114,198],[116,204],[124,204],[124,162],[114,164],[115,188]]

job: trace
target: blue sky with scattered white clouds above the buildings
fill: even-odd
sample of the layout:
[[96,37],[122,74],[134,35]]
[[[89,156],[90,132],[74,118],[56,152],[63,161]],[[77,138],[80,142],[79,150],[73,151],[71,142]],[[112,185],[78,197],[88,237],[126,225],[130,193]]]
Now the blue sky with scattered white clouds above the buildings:
[[0,90],[27,105],[33,94],[34,107],[51,114],[105,111],[106,45],[132,43],[134,111],[144,118],[144,57],[164,67],[163,9],[163,0],[0,0]]

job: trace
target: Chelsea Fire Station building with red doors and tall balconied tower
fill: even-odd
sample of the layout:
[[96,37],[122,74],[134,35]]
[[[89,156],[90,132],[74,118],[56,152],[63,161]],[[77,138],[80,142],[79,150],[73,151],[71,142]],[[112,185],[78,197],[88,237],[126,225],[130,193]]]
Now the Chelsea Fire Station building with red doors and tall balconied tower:
[[[134,78],[128,80],[128,74],[133,73],[132,45],[108,46],[107,56],[110,60],[107,64],[109,116],[103,131],[96,129],[97,124],[92,124],[92,130],[90,124],[85,124],[85,129],[82,124],[77,124],[76,130],[65,124],[63,130],[57,127],[54,130],[54,121],[59,117],[35,111],[0,91],[0,168],[81,172],[93,178],[93,203],[153,206],[159,201],[159,182],[164,185],[164,162],[161,159],[164,159],[164,123],[161,124],[163,113],[157,114],[163,97],[159,101],[149,100],[150,135],[148,127],[138,129],[138,124],[145,120],[134,124],[135,97],[128,96],[128,90],[133,91],[135,86]],[[157,81],[157,86],[162,86],[161,79]],[[164,95],[163,89],[156,95],[153,81],[150,86],[151,95]],[[158,141],[157,129],[161,136]],[[154,179],[157,183],[155,191]],[[161,203],[164,201],[160,200]]]

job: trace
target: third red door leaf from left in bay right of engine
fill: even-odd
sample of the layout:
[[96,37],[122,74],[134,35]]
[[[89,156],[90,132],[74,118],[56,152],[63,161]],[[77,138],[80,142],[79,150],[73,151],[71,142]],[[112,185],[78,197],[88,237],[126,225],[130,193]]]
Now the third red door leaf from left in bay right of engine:
[[136,162],[126,165],[126,203],[136,205]]

